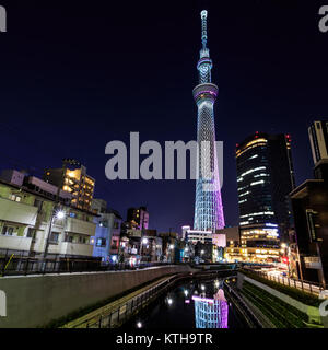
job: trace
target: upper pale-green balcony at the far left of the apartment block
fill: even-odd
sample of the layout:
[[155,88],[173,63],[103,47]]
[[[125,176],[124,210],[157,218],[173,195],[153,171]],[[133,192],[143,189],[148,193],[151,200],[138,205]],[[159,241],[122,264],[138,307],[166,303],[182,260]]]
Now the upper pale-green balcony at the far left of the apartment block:
[[0,198],[0,220],[35,225],[37,208],[22,202]]

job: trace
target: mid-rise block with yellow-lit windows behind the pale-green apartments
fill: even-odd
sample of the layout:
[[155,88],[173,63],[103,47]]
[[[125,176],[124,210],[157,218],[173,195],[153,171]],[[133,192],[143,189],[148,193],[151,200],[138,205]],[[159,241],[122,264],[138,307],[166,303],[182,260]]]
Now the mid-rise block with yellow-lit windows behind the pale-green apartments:
[[61,168],[47,168],[44,179],[72,195],[71,205],[79,209],[91,210],[95,179],[86,174],[86,167],[79,165]]

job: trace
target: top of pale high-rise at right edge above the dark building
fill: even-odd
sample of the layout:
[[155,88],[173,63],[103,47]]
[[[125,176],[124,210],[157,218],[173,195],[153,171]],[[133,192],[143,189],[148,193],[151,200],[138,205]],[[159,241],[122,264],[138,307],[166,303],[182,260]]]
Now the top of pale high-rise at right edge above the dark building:
[[328,160],[328,121],[314,121],[308,128],[314,164]]

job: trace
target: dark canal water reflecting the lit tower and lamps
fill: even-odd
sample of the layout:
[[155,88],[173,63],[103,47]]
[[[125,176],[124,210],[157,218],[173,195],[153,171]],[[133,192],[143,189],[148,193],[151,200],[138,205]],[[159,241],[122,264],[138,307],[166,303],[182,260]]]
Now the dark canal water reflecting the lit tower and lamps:
[[[246,328],[244,317],[225,295],[223,279],[192,279],[165,292],[124,329]],[[227,280],[234,283],[233,279]]]

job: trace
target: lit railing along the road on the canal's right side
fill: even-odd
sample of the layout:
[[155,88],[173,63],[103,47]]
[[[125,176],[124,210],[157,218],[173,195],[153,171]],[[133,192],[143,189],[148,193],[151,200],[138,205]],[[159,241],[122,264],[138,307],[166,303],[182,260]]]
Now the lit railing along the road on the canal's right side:
[[257,273],[258,276],[260,276],[269,281],[273,281],[273,282],[286,285],[286,287],[296,288],[303,292],[311,293],[316,296],[320,295],[320,293],[325,290],[323,288],[323,285],[319,283],[304,281],[304,280],[303,281],[296,280],[296,279],[283,277],[283,276],[273,276],[273,275],[267,273],[265,271],[254,270],[254,269],[249,269],[246,267],[244,267],[244,269],[246,271]]

